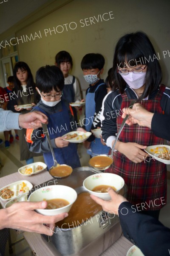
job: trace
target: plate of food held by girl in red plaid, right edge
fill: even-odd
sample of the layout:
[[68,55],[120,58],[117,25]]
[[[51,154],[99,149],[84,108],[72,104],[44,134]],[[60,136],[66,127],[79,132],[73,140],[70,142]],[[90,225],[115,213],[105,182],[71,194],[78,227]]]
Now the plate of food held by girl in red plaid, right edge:
[[[170,164],[170,146],[153,145],[144,149],[153,159],[161,163]],[[146,159],[147,160],[147,159]]]

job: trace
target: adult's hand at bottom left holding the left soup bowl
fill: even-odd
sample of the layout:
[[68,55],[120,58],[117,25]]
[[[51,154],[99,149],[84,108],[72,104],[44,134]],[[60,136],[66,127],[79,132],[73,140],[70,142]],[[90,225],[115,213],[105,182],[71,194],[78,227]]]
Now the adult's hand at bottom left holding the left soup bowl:
[[[68,216],[62,213],[55,216],[44,216],[34,209],[45,209],[47,202],[18,202],[6,209],[0,210],[0,229],[5,227],[28,232],[36,232],[52,236],[53,228],[57,221]],[[43,225],[46,224],[46,225]]]

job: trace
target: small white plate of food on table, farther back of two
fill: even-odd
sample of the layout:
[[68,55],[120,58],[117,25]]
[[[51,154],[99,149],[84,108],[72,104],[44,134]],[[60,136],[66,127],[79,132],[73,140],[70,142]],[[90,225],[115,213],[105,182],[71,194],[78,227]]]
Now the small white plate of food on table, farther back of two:
[[23,176],[31,176],[43,172],[47,168],[47,165],[42,162],[30,163],[26,166],[20,167],[18,172]]

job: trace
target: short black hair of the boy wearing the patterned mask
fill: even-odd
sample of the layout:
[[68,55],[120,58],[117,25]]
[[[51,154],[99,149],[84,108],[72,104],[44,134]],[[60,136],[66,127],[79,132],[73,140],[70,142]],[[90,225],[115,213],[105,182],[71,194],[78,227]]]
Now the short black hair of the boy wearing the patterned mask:
[[105,58],[100,53],[88,53],[86,54],[81,61],[81,68],[84,69],[93,69],[98,68],[101,70],[105,65]]

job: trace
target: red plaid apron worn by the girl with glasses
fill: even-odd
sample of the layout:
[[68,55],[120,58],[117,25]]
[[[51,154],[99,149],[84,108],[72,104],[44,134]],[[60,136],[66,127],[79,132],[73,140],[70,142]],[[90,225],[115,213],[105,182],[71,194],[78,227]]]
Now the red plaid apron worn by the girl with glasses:
[[[160,86],[155,99],[142,100],[141,105],[148,111],[162,113],[160,100],[165,87]],[[130,102],[127,94],[122,94],[122,108],[128,108]],[[117,130],[122,124],[121,116],[117,117]],[[140,145],[163,144],[163,139],[156,137],[150,128],[139,125],[125,124],[119,140],[121,142],[135,142]],[[161,209],[167,200],[167,169],[164,163],[153,158],[146,158],[142,163],[133,163],[124,154],[113,152],[113,165],[105,172],[115,173],[124,178],[128,187],[127,199],[134,205],[144,203],[147,210]],[[161,199],[162,198],[162,201]],[[143,210],[146,210],[144,209]],[[142,208],[139,208],[140,210]]]

